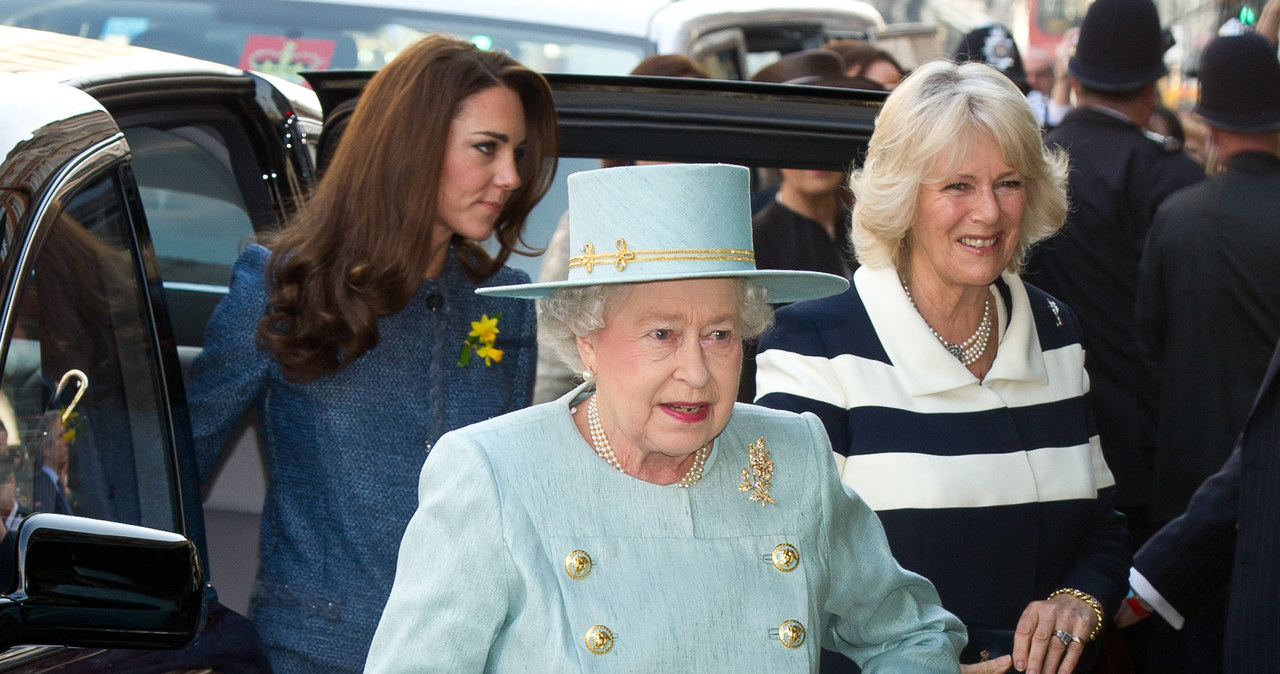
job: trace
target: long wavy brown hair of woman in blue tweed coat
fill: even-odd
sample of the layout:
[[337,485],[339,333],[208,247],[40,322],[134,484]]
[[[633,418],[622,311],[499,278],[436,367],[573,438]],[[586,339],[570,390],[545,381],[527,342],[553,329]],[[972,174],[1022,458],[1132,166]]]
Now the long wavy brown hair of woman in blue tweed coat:
[[512,252],[526,252],[525,219],[556,173],[550,87],[506,52],[426,36],[369,81],[315,193],[288,226],[264,239],[271,248],[270,298],[257,344],[287,379],[307,382],[346,367],[378,344],[378,318],[408,304],[433,257],[452,120],[466,98],[498,86],[516,92],[525,110],[521,184],[494,225],[497,255],[457,234],[451,244],[476,283]]

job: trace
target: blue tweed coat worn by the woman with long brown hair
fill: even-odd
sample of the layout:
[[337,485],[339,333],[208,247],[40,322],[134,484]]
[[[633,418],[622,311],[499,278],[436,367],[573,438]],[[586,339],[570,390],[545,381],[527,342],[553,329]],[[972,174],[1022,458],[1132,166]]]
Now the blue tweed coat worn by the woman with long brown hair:
[[[447,431],[526,407],[536,361],[529,301],[475,294],[451,255],[408,306],[379,320],[378,345],[344,370],[298,385],[255,345],[269,251],[250,246],[206,327],[192,371],[201,480],[253,407],[269,487],[252,618],[276,671],[358,670],[413,514],[417,474]],[[526,283],[503,269],[486,281]],[[458,367],[471,321],[500,313],[500,362]],[[216,569],[214,569],[216,572]]]

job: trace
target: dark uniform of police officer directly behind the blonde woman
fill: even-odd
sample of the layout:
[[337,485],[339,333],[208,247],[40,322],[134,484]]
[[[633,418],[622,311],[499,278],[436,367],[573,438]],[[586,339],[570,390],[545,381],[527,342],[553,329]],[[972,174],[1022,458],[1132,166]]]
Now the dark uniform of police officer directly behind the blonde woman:
[[1025,279],[1075,310],[1102,451],[1116,478],[1117,506],[1135,537],[1151,495],[1152,407],[1138,358],[1138,260],[1156,207],[1204,178],[1184,152],[1121,115],[1073,110],[1046,143],[1071,157],[1066,225],[1032,252]]

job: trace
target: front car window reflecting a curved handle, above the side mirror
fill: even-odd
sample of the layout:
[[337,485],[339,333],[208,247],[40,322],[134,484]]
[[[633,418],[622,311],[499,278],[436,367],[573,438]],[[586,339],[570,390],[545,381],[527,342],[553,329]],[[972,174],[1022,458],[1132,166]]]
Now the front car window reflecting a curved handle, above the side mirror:
[[58,512],[180,531],[143,286],[116,178],[49,220],[20,280],[0,422],[0,517]]

